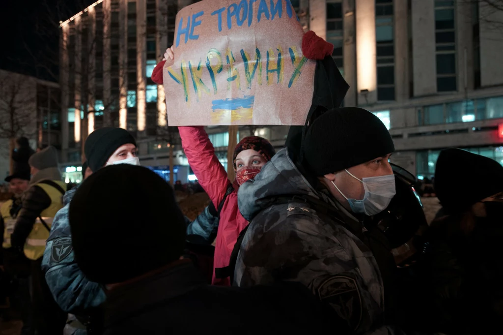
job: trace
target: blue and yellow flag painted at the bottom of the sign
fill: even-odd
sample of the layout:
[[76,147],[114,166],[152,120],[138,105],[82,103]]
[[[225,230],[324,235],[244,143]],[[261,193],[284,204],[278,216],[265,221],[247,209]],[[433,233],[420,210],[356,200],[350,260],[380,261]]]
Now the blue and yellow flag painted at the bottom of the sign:
[[255,96],[213,100],[211,119],[213,123],[240,124],[251,121]]

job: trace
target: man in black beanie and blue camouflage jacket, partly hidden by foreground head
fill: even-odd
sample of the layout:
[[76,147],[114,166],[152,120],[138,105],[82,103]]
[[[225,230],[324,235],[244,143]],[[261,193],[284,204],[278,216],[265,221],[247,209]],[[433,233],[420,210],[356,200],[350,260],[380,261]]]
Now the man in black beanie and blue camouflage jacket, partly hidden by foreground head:
[[[84,144],[87,164],[92,172],[97,172],[107,165],[139,165],[136,151],[136,141],[127,130],[122,128],[99,128],[88,136]],[[85,171],[82,172],[85,173]],[[83,275],[73,259],[68,208],[76,189],[78,186],[65,193],[64,207],[54,218],[51,233],[47,239],[42,270],[45,273],[47,285],[59,306],[66,312],[76,314],[80,323],[86,324],[87,329],[92,332],[93,316],[100,314],[94,309],[105,301],[105,293],[101,285],[91,282]],[[92,214],[101,215],[97,211],[92,211]],[[67,327],[73,327],[73,323],[76,323],[77,328],[86,328],[77,322],[67,324]]]

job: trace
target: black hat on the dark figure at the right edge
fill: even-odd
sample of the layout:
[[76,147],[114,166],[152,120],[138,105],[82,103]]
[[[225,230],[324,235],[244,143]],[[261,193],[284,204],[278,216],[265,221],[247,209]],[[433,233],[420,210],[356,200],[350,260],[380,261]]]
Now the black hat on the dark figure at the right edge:
[[445,149],[437,160],[434,187],[447,213],[462,212],[503,191],[503,166],[465,150]]

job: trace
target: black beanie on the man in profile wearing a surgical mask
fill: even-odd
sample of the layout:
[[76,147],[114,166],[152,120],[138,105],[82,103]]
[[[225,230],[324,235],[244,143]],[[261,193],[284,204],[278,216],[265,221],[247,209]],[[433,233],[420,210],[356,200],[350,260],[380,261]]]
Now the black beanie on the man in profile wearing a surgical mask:
[[327,110],[306,129],[302,145],[305,168],[315,176],[383,157],[395,151],[382,121],[363,108]]

